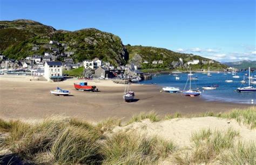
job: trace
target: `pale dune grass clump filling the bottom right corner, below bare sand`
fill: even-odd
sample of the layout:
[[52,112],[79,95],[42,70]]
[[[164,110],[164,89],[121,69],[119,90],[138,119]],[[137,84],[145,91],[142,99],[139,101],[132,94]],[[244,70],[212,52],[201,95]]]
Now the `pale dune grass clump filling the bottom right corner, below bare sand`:
[[[235,142],[239,136],[237,131],[228,129],[226,132],[201,130],[192,134],[193,142],[190,153],[184,150],[173,154],[177,164],[254,164],[256,147],[253,142]],[[183,154],[181,154],[183,153]],[[185,154],[184,154],[185,153]]]

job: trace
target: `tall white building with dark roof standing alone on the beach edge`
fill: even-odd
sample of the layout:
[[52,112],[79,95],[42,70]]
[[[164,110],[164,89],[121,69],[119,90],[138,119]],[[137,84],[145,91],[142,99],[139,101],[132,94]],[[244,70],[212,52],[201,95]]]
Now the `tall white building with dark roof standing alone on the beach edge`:
[[62,62],[59,61],[46,61],[44,63],[44,78],[47,81],[62,81]]

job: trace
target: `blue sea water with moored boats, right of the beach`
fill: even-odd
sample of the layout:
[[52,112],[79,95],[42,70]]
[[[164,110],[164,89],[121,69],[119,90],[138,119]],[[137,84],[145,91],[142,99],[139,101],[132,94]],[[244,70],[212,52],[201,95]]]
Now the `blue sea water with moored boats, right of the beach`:
[[[224,73],[211,73],[209,77],[207,74],[194,73],[192,77],[198,77],[197,81],[191,81],[191,88],[199,88],[202,91],[201,98],[206,101],[220,101],[220,102],[233,102],[233,103],[244,103],[244,104],[256,104],[256,92],[236,92],[235,90],[239,87],[247,87],[248,80],[245,84],[241,84],[240,81],[244,79],[245,73],[237,73],[240,78],[233,78],[234,75]],[[152,80],[145,80],[140,83],[142,84],[156,84],[161,87],[178,87],[180,90],[184,90],[187,82],[187,74],[177,74],[179,80],[176,80],[173,74],[159,74],[156,77],[152,76]],[[256,74],[254,74],[256,75]],[[254,76],[253,76],[254,77]],[[225,80],[233,80],[231,83],[226,83]],[[256,80],[255,80],[256,81]],[[204,90],[202,87],[219,85],[213,90]],[[252,85],[253,86],[253,85]],[[254,87],[256,85],[254,84]],[[189,88],[189,81],[187,82],[187,88]],[[253,102],[252,102],[253,100]]]

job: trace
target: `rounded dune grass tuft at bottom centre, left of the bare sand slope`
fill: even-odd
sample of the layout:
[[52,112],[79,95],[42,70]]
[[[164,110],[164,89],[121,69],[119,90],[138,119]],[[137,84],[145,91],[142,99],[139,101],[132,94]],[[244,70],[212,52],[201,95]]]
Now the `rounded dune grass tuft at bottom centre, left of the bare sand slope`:
[[106,139],[102,153],[104,164],[152,164],[176,147],[170,141],[146,138],[136,132],[119,132]]

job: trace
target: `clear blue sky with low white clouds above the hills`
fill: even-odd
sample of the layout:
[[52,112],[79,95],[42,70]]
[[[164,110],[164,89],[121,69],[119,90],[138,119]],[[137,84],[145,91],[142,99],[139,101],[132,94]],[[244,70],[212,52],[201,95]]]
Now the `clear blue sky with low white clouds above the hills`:
[[123,44],[167,48],[218,61],[256,60],[255,0],[0,0],[0,20],[57,30],[94,27]]

